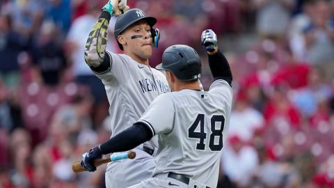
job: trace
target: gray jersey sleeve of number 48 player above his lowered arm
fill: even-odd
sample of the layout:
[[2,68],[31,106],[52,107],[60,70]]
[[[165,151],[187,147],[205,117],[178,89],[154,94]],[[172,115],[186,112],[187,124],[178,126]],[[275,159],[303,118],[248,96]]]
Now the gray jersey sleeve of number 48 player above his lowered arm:
[[173,130],[175,108],[173,100],[168,94],[170,93],[159,95],[153,100],[150,107],[138,120],[139,123],[150,127],[152,135],[168,134]]

